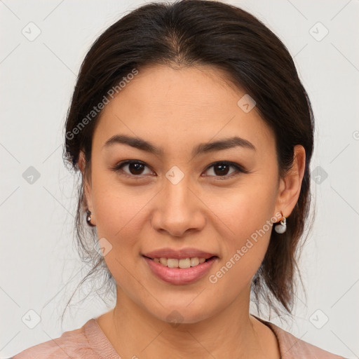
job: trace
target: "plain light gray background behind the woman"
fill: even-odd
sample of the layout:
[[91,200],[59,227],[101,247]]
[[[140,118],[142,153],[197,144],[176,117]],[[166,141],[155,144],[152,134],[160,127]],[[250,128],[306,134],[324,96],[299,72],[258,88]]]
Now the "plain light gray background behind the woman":
[[[282,39],[316,115],[311,170],[320,166],[322,177],[311,183],[316,222],[300,261],[307,298],[298,294],[292,325],[271,321],[327,351],[358,358],[359,2],[226,2],[250,11]],[[63,124],[90,45],[140,4],[0,1],[1,358],[112,307],[96,296],[81,302],[80,293],[60,326],[65,303],[86,273],[73,245],[76,191],[62,164]],[[22,34],[36,34],[29,22],[41,30],[33,41]],[[329,31],[320,41],[325,29],[318,22]],[[40,173],[33,184],[22,177],[29,166]],[[22,321],[34,314],[29,310],[41,316],[34,329]]]

